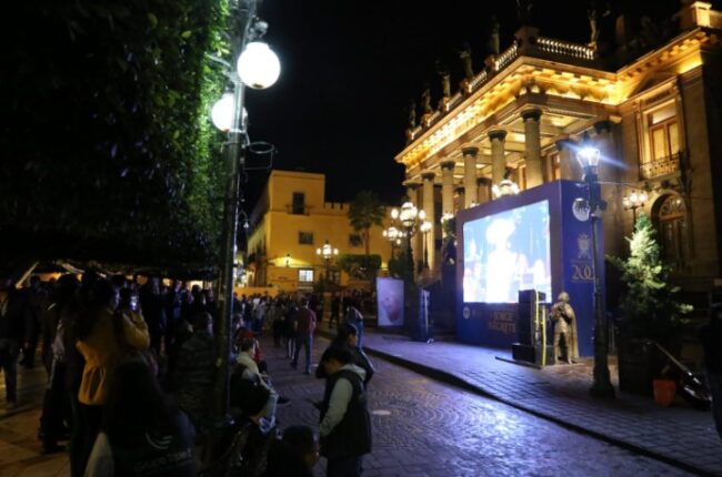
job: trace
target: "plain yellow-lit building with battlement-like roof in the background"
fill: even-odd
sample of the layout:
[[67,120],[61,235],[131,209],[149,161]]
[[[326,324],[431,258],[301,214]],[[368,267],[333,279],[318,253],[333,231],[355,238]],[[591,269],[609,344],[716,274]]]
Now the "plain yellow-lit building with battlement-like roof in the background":
[[[365,253],[360,234],[349,224],[349,204],[325,202],[324,191],[323,174],[271,171],[250,215],[247,286],[310,291],[327,273],[342,286],[368,286],[368,282],[353,282],[341,273],[333,261],[327,268],[317,254],[327,241],[339,254]],[[381,255],[385,268],[391,244],[382,236],[381,227],[374,226],[370,233],[370,253]]]

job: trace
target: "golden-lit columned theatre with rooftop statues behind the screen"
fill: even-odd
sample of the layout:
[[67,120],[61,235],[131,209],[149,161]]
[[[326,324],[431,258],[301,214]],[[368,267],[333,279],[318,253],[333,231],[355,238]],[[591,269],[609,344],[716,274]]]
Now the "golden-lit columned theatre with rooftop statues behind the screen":
[[[575,149],[585,140],[604,161],[605,252],[625,254],[623,237],[644,212],[675,280],[686,291],[710,290],[721,256],[722,13],[683,1],[674,19],[665,38],[636,38],[606,58],[592,43],[522,27],[512,45],[407,131],[395,160],[412,202],[435,217],[425,240],[437,275],[442,214],[494,200],[492,187],[505,176],[521,190],[580,181]],[[643,205],[630,202],[643,195]],[[423,237],[414,240],[421,250]]]

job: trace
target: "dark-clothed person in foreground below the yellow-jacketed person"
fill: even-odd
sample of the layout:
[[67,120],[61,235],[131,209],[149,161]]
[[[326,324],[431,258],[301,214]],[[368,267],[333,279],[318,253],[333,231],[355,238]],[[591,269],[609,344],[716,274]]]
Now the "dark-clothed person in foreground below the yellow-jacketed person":
[[86,477],[195,476],[194,439],[188,416],[160,390],[148,366],[124,363],[114,372]]

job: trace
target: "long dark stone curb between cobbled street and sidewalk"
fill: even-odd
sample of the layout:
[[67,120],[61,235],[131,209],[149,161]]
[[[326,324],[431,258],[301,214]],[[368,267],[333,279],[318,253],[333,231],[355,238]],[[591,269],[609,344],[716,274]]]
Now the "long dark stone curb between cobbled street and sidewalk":
[[[333,334],[330,333],[328,329],[319,329],[319,328],[317,328],[317,333],[319,333],[320,335],[322,335],[322,336],[324,336],[324,337],[327,337],[329,339],[333,338]],[[548,414],[540,413],[539,410],[528,408],[528,407],[525,407],[525,406],[523,406],[523,405],[521,405],[519,403],[514,403],[512,400],[500,397],[499,395],[492,394],[492,393],[485,390],[484,388],[482,388],[480,386],[477,386],[477,385],[473,385],[473,384],[469,383],[468,380],[465,380],[465,379],[463,379],[463,378],[461,378],[459,376],[455,376],[455,375],[453,375],[453,374],[451,374],[449,372],[444,372],[444,371],[441,371],[441,369],[438,369],[438,368],[434,368],[434,367],[431,367],[431,366],[427,366],[427,365],[423,365],[423,364],[420,364],[420,363],[415,363],[415,362],[412,362],[410,359],[403,358],[401,356],[397,356],[397,355],[393,355],[391,353],[383,352],[383,351],[380,351],[380,349],[377,349],[377,348],[373,348],[373,347],[363,346],[363,349],[368,354],[370,354],[372,356],[377,356],[377,357],[380,357],[380,358],[382,358],[384,361],[393,363],[395,365],[405,367],[405,368],[411,369],[411,371],[413,371],[415,373],[419,373],[419,374],[421,374],[423,376],[430,377],[430,378],[432,378],[434,380],[439,380],[439,382],[449,384],[451,386],[455,386],[455,387],[459,387],[461,389],[468,390],[470,393],[474,393],[474,394],[478,394],[478,395],[481,395],[481,396],[484,396],[484,397],[492,398],[492,399],[498,400],[500,403],[503,403],[503,404],[505,404],[508,406],[511,406],[511,407],[514,407],[517,409],[523,410],[524,413],[529,413],[529,414],[531,414],[533,416],[543,418],[545,420],[550,420],[550,422],[552,422],[554,424],[558,424],[558,425],[560,425],[560,426],[562,426],[564,428],[574,430],[576,433],[584,434],[584,435],[598,438],[600,440],[604,440],[604,442],[606,442],[609,444],[615,445],[618,447],[622,447],[622,448],[624,448],[626,450],[630,450],[630,451],[633,451],[635,454],[640,454],[640,455],[643,455],[643,456],[646,456],[646,457],[651,457],[653,459],[660,460],[660,461],[662,461],[664,464],[669,464],[671,466],[678,467],[680,469],[686,470],[686,471],[692,473],[692,474],[696,474],[696,475],[701,475],[701,476],[711,476],[711,477],[716,476],[716,474],[710,473],[709,470],[696,467],[696,466],[694,466],[694,465],[692,465],[690,463],[685,463],[685,461],[682,461],[682,460],[679,460],[679,459],[671,458],[671,457],[665,456],[663,454],[659,454],[659,453],[655,453],[653,450],[646,449],[644,447],[640,447],[640,446],[638,446],[638,445],[635,445],[633,443],[621,440],[621,439],[614,438],[612,436],[608,436],[605,434],[601,434],[601,433],[588,429],[588,428],[579,426],[576,424],[569,423],[569,422],[566,422],[564,419],[560,419],[559,417],[550,416]]]

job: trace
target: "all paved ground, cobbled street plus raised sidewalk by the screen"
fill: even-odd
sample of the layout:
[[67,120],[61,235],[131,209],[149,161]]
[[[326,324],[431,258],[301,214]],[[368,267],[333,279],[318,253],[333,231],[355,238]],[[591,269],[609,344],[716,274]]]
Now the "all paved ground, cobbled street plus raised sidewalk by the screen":
[[[320,332],[330,335],[325,325]],[[629,400],[628,396],[613,403],[588,402],[584,393],[575,390],[588,386],[583,364],[538,371],[497,359],[503,351],[415,343],[378,333],[367,333],[364,339],[378,368],[369,387],[374,445],[364,460],[364,476],[722,475],[712,468],[720,463],[722,446],[709,434],[713,433],[709,413],[682,404],[658,408],[651,399]],[[273,348],[268,338],[262,345],[275,387],[291,398],[279,407],[281,428],[298,424],[315,428],[318,412],[311,400],[321,397],[323,382],[292,369],[284,353]],[[315,341],[314,359],[327,345],[323,337]],[[404,366],[382,358],[382,354]],[[414,367],[421,373],[410,369]],[[22,369],[20,374],[23,404],[0,410],[0,475],[68,476],[67,455],[42,456],[37,440],[44,369]],[[556,382],[566,384],[563,392]],[[522,410],[525,406],[533,414]],[[544,412],[553,414],[554,409],[559,414],[553,419],[562,425],[543,417]],[[628,413],[626,420],[623,413]],[[685,422],[690,416],[692,422]],[[564,424],[566,420],[573,424]],[[670,426],[680,428],[665,435]],[[693,432],[702,433],[692,440],[702,449],[692,450],[694,456],[706,457],[700,463],[709,463],[704,464],[708,469],[676,461],[673,453],[653,458],[653,453],[640,455],[634,446],[610,444],[625,436],[639,445],[646,439],[650,448],[660,453],[664,446],[679,448],[682,455],[690,448],[684,439]],[[323,459],[315,475],[324,475]]]

